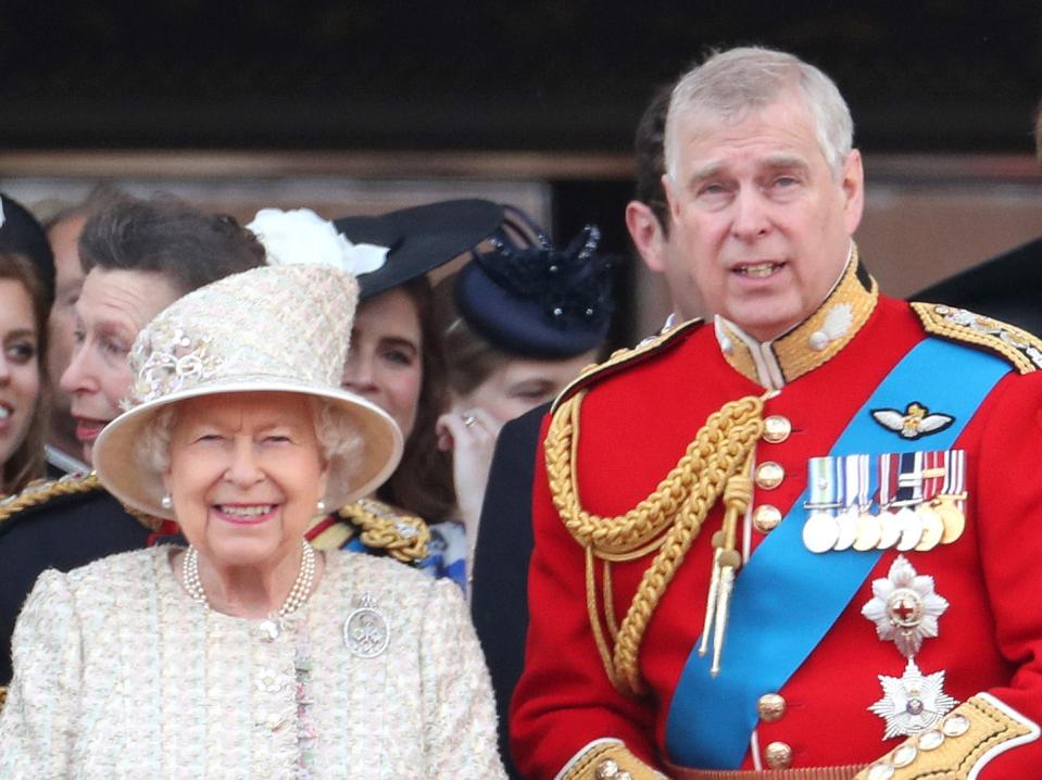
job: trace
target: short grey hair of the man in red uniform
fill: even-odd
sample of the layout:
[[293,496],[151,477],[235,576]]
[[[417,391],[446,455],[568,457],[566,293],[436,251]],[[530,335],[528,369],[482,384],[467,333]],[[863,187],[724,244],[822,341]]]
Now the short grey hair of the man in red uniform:
[[794,91],[806,102],[818,146],[839,178],[854,143],[854,121],[831,78],[798,56],[773,49],[742,47],[717,52],[677,81],[666,117],[666,172],[677,181],[680,128],[692,117],[740,121],[750,110]]

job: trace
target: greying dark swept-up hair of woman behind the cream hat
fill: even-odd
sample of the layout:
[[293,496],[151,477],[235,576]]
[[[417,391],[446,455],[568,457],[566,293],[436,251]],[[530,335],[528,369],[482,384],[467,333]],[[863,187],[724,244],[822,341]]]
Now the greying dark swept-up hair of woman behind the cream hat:
[[162,196],[124,198],[91,216],[79,236],[84,272],[159,273],[181,294],[264,265],[264,247],[234,218]]

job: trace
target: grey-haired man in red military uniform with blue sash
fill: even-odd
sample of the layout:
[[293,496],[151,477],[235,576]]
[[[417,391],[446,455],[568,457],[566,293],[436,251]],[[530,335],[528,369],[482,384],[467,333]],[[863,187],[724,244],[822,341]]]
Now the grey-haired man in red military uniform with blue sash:
[[664,177],[712,311],[545,423],[515,759],[533,778],[1032,777],[1042,344],[879,294],[836,86],[735,49]]

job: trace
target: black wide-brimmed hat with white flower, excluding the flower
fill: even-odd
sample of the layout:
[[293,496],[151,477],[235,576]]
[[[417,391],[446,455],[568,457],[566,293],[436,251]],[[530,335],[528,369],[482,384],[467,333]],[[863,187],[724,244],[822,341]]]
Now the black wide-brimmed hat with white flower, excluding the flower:
[[380,268],[359,275],[363,301],[418,278],[479,244],[503,221],[503,206],[477,198],[346,216],[332,224],[351,243],[387,247]]

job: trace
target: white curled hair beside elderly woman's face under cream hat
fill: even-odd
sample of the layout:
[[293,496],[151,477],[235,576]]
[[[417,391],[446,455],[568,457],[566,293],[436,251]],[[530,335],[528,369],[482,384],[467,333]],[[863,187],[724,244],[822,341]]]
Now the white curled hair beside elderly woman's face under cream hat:
[[[354,424],[324,399],[312,395],[309,401],[315,423],[315,437],[325,462],[332,463],[337,458],[350,462],[364,448]],[[171,404],[148,422],[134,443],[134,457],[138,467],[156,478],[170,470],[170,443],[175,425],[177,404]]]

